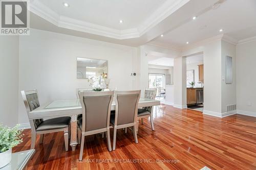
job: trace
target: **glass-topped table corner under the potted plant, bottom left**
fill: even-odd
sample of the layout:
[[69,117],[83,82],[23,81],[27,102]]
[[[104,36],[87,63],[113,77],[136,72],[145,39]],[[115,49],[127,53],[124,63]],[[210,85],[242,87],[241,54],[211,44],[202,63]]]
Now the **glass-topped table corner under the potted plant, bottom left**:
[[16,170],[16,169],[23,169],[28,161],[33,156],[35,150],[27,150],[22,152],[12,153],[12,159],[9,164],[0,168],[1,170]]

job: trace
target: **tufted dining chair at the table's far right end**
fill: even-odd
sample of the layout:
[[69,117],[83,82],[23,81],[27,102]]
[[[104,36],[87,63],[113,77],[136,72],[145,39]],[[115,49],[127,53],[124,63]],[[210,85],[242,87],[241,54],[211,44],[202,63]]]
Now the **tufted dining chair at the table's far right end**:
[[[156,98],[156,89],[145,90],[145,98],[155,99]],[[151,128],[154,131],[154,122],[153,122],[153,106],[143,107],[138,109],[138,118],[141,118],[141,124],[143,125],[143,118],[150,117]]]

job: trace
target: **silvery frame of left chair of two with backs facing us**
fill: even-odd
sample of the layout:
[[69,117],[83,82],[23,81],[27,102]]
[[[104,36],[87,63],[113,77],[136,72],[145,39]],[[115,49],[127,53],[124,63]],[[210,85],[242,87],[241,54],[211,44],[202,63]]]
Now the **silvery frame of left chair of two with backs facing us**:
[[[83,104],[83,96],[102,96],[102,95],[111,95],[111,100],[109,103],[109,110],[108,110],[108,118],[107,118],[107,123],[106,123],[106,128],[102,129],[97,129],[97,130],[92,130],[92,131],[87,131],[86,132],[86,108],[84,107]],[[80,103],[82,106],[82,131],[80,128],[78,128],[78,140],[81,141],[80,144],[80,154],[79,154],[79,160],[82,160],[82,155],[83,155],[83,147],[84,147],[84,137],[87,135],[92,135],[92,134],[97,134],[97,133],[104,133],[106,132],[106,139],[108,142],[108,149],[109,151],[112,151],[111,148],[111,140],[110,140],[110,112],[111,112],[111,105],[113,102],[114,98],[114,91],[100,91],[100,92],[95,92],[95,91],[86,91],[86,92],[79,92],[79,99]]]

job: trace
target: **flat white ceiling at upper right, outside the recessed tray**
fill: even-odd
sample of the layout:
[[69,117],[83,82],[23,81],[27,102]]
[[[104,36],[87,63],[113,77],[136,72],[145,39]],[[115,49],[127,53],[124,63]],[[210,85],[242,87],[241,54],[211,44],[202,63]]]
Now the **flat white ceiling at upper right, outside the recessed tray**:
[[[217,9],[208,9],[152,43],[184,48],[198,41],[225,34],[237,41],[256,36],[256,1],[226,0]],[[219,32],[223,29],[223,32]],[[189,44],[186,44],[188,42]]]

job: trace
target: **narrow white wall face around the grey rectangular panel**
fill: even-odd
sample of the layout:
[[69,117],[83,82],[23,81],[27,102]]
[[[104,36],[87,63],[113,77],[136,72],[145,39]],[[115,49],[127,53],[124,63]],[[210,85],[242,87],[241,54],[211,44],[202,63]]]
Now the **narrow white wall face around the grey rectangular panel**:
[[[226,56],[232,57],[232,75],[233,82],[226,84]],[[237,104],[237,81],[236,81],[236,45],[233,45],[226,41],[221,41],[221,112],[227,112],[227,105]],[[234,111],[235,112],[235,111]]]

